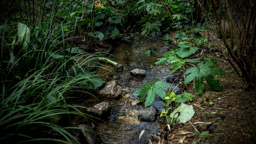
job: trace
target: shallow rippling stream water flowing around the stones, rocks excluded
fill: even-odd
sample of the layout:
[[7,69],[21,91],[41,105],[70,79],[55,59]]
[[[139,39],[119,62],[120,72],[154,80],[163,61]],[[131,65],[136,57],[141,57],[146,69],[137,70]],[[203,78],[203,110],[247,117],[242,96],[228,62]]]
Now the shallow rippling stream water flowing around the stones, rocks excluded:
[[[138,118],[138,111],[144,108],[144,104],[137,104],[140,101],[139,97],[133,97],[132,94],[140,87],[145,86],[146,82],[152,82],[157,79],[163,80],[170,74],[170,70],[166,64],[163,67],[161,64],[154,66],[156,60],[153,58],[161,58],[162,55],[169,51],[171,43],[164,41],[161,33],[151,37],[135,38],[131,43],[117,43],[114,46],[114,51],[108,57],[113,61],[123,64],[124,71],[118,72],[110,64],[106,64],[106,68],[113,71],[115,75],[102,69],[97,69],[98,75],[106,80],[117,80],[117,84],[121,86],[121,97],[116,100],[103,100],[110,104],[111,113],[105,122],[94,123],[96,132],[100,134],[103,143],[109,144],[139,144],[147,143],[152,139],[152,136],[157,135],[160,130],[160,125],[163,124],[163,119],[160,118],[162,105],[164,102],[156,95],[155,101],[151,106],[155,106],[159,114],[155,121],[146,121]],[[156,47],[158,50],[154,54],[143,54],[144,50],[149,50],[150,47]],[[146,76],[143,78],[133,77],[130,75],[132,69],[146,70]],[[176,77],[170,75],[170,77]],[[163,82],[166,82],[164,80]],[[167,82],[168,83],[168,82]],[[171,85],[171,83],[168,83]],[[174,84],[172,89],[176,86]],[[169,88],[166,88],[167,92]],[[176,91],[179,89],[176,88]],[[92,104],[86,102],[86,104]],[[96,103],[97,104],[97,103]],[[139,135],[142,130],[145,130],[141,139]]]

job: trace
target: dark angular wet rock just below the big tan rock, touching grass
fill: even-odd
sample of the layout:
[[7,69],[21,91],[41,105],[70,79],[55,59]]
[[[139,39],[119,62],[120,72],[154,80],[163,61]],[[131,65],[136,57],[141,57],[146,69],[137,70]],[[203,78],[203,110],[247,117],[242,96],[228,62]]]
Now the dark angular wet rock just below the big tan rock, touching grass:
[[100,115],[100,117],[110,113],[110,106],[106,102],[101,102],[100,104],[96,104],[90,109],[87,109],[87,112],[91,112],[95,115]]

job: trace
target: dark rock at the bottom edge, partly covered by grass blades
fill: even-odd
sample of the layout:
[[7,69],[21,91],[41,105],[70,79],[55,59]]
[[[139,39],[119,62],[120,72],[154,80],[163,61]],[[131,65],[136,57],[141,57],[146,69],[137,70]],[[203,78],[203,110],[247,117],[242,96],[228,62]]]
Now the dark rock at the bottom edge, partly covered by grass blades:
[[[88,125],[78,125],[78,127],[89,129],[89,130],[94,132],[93,128],[89,127]],[[82,130],[87,143],[90,143],[90,144],[100,144],[100,143],[102,143],[102,139],[101,139],[100,135],[97,135],[97,134],[95,134],[91,131]]]

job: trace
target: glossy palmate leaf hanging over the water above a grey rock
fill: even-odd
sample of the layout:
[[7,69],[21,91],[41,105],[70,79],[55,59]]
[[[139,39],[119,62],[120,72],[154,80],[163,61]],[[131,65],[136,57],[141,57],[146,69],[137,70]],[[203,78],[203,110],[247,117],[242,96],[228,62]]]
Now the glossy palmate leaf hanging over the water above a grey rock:
[[[158,79],[159,80],[159,79]],[[161,89],[161,88],[168,88],[170,87],[169,84],[166,84],[164,82],[157,82],[158,80],[154,81],[154,82],[146,82],[145,85],[139,89],[137,89],[137,91],[135,91],[135,93],[133,94],[133,96],[135,97],[141,97],[141,101],[142,102],[144,100],[144,98],[146,97],[146,94],[148,94],[146,101],[145,101],[145,108],[150,106],[150,104],[152,104],[152,102],[155,100],[155,93],[161,97],[161,99],[165,98],[165,90]]]

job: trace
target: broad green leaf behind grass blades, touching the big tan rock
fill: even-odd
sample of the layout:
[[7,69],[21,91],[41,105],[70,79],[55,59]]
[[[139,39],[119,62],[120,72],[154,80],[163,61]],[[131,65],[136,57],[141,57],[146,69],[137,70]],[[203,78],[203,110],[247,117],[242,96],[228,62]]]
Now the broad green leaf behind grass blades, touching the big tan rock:
[[98,76],[95,71],[84,71],[84,73],[78,72],[77,75],[78,75],[78,78],[83,79],[81,84],[85,84],[89,88],[93,88],[93,89],[96,89],[97,87],[102,86],[102,84],[106,82],[106,80]]

